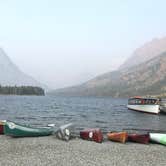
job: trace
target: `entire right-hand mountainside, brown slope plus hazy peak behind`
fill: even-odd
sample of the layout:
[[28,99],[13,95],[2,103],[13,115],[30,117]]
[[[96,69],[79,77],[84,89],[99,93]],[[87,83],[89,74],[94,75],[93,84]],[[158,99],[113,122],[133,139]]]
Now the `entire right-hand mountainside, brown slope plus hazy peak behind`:
[[[79,86],[55,90],[52,94],[129,97],[166,93],[166,38],[161,40],[161,43],[165,41],[161,49],[158,42],[157,46],[154,44],[156,41],[152,41],[153,44],[145,44],[143,48],[137,49],[117,71],[105,73]],[[160,40],[158,41],[160,43]],[[152,48],[153,51],[148,50],[152,45],[155,47]],[[141,54],[140,50],[145,52],[142,51]],[[139,61],[144,55],[145,58]],[[132,63],[133,59],[138,60],[132,65],[127,65]]]

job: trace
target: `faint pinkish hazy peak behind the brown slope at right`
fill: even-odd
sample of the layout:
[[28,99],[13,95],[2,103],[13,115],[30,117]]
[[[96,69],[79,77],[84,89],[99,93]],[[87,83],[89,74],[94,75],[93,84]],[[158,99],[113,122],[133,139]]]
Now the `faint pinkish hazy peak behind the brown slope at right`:
[[163,52],[166,52],[166,37],[161,39],[155,38],[152,41],[145,43],[142,47],[137,48],[119,69],[129,68],[131,66],[141,64]]

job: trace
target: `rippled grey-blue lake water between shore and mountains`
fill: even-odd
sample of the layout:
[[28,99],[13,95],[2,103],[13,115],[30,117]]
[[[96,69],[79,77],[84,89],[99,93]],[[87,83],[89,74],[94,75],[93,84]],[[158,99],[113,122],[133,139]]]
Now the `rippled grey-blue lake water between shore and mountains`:
[[45,126],[74,123],[77,129],[166,128],[166,115],[128,110],[127,99],[57,96],[0,96],[0,119]]

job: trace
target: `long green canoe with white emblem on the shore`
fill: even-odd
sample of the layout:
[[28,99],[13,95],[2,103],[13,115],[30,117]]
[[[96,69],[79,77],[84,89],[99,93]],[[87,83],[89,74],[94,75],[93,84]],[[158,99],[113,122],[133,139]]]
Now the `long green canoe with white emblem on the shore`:
[[13,122],[6,122],[4,134],[12,137],[38,137],[48,136],[53,133],[53,127],[34,128]]

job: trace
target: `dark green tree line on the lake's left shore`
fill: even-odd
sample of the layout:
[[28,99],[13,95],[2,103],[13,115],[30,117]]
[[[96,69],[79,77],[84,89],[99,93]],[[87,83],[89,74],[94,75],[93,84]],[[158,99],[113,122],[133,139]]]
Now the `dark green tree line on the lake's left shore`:
[[34,86],[1,86],[1,95],[37,95],[44,96],[44,89]]

